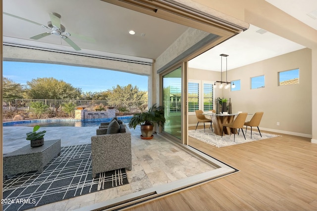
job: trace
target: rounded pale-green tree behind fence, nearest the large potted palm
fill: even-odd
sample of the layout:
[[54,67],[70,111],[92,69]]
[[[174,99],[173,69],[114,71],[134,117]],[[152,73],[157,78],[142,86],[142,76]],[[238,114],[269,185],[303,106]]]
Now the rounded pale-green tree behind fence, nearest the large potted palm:
[[117,85],[110,90],[108,99],[111,104],[116,105],[118,108],[140,107],[147,101],[147,92],[141,91],[137,86],[132,86],[132,84],[126,86]]

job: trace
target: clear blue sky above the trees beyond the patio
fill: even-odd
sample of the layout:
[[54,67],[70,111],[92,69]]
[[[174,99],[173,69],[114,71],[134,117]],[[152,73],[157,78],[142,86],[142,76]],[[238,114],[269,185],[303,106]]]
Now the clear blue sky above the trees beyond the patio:
[[73,87],[81,88],[83,92],[104,91],[112,89],[117,84],[120,86],[132,84],[140,90],[148,90],[147,76],[68,65],[4,61],[3,77],[22,85],[32,79],[53,77]]

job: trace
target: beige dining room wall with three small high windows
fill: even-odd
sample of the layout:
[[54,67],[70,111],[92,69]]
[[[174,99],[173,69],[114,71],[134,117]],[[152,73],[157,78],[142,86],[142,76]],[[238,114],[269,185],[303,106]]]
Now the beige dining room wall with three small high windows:
[[[300,68],[300,84],[278,86],[278,72],[296,68]],[[214,76],[209,71],[205,72],[200,74],[204,78]],[[251,89],[250,78],[261,75],[264,75],[265,87]],[[311,76],[312,51],[305,48],[228,71],[228,80],[241,80],[241,90],[222,89],[222,96],[231,98],[233,112],[254,114],[264,111],[260,127],[291,134],[300,133],[309,137],[312,134]],[[250,115],[248,119],[251,117]],[[196,124],[195,122],[197,123],[196,119],[189,124]],[[280,126],[277,126],[276,122],[279,122]]]

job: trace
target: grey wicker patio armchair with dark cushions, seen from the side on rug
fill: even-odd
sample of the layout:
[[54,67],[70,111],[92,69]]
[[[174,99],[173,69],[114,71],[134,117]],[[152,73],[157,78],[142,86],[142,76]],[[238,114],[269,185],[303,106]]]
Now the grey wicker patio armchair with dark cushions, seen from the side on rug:
[[91,151],[94,178],[109,170],[132,169],[131,133],[115,118],[107,128],[97,129],[97,135],[91,137]]

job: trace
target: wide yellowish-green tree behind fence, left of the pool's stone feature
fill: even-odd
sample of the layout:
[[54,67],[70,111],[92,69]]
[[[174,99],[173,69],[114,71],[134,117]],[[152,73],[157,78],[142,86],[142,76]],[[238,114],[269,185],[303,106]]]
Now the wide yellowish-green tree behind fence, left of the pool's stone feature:
[[31,99],[79,99],[81,89],[62,80],[37,78],[27,82],[26,94]]

